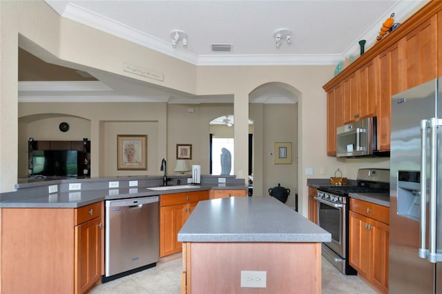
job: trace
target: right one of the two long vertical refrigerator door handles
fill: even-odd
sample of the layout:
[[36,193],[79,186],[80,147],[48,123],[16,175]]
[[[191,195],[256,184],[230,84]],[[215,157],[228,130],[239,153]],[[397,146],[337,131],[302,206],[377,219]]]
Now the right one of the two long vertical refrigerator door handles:
[[436,212],[437,212],[437,128],[442,126],[442,119],[430,119],[431,154],[430,154],[430,224],[428,228],[428,261],[442,261],[442,254],[436,253]]

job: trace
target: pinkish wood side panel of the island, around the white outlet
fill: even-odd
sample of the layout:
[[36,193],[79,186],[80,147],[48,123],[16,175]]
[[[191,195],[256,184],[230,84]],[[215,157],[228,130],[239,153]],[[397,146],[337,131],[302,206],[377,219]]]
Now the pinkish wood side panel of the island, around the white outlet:
[[[193,242],[187,279],[190,269],[192,293],[321,293],[320,250],[320,243]],[[241,288],[241,271],[267,271],[267,287]]]

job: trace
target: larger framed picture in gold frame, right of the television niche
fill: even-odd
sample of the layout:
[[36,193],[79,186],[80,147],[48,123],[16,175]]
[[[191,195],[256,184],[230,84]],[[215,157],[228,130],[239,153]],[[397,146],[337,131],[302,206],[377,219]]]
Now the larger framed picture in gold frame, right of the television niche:
[[117,135],[117,170],[147,170],[147,136]]

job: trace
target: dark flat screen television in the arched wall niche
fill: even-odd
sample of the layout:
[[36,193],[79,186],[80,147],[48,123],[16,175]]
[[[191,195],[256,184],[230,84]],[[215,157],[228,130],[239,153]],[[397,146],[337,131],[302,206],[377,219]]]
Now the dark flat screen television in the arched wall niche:
[[32,175],[76,177],[77,150],[32,151]]

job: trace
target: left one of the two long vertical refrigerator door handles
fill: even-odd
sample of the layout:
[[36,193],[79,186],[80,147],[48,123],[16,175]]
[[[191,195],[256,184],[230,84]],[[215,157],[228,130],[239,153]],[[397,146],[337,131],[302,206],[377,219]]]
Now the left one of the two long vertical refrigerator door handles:
[[429,121],[421,120],[421,246],[419,247],[419,257],[427,258],[428,249],[425,244],[427,228],[427,128]]

